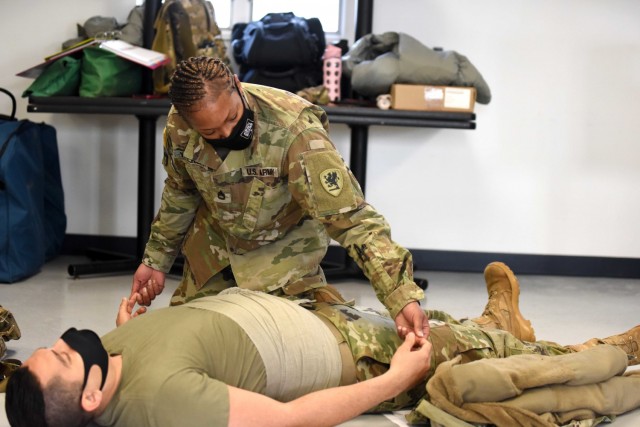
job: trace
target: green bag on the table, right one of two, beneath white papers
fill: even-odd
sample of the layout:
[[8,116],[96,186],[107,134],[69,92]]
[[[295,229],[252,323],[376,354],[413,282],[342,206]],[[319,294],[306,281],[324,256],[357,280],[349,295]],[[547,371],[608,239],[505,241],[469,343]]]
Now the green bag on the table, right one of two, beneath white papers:
[[141,92],[142,67],[91,46],[82,51],[80,96],[131,96]]

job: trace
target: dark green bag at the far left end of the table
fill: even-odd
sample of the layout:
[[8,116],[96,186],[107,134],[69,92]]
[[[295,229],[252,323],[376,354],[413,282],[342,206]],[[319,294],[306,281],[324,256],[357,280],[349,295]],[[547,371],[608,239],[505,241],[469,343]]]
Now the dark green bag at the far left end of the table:
[[80,86],[80,60],[65,56],[52,62],[22,93],[29,96],[77,96]]

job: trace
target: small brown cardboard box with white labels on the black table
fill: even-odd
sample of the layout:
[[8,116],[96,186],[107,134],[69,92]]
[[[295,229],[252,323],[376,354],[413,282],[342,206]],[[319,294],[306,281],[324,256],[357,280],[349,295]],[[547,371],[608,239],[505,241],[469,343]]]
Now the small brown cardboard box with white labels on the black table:
[[472,113],[475,103],[474,87],[405,84],[391,86],[391,108],[394,110]]

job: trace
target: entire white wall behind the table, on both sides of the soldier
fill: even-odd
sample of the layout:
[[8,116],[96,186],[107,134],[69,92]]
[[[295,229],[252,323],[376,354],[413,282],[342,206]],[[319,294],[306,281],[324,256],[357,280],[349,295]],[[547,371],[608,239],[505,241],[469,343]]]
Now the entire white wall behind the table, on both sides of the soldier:
[[[21,94],[30,80],[15,73],[73,37],[76,22],[123,22],[133,4],[0,0],[0,86]],[[394,238],[416,249],[640,257],[638,22],[635,0],[377,0],[374,33],[458,51],[493,93],[474,131],[371,128],[367,196]],[[68,232],[134,236],[135,118],[28,114],[23,99],[18,115],[58,130]],[[348,128],[332,132],[348,157]]]

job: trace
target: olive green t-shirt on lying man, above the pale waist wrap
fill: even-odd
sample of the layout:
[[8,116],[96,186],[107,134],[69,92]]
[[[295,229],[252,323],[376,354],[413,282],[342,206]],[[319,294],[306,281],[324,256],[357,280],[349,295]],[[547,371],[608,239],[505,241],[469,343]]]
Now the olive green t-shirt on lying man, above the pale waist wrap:
[[122,355],[122,382],[95,420],[99,425],[226,426],[226,384],[258,393],[266,386],[255,345],[235,322],[213,311],[152,310],[102,342],[110,354]]

